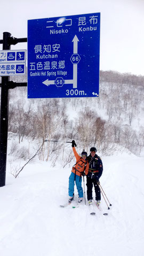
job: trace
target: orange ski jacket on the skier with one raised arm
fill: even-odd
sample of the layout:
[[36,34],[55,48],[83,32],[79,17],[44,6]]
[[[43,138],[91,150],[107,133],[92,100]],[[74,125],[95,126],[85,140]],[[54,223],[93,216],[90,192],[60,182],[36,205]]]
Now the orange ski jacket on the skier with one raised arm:
[[85,170],[85,175],[87,175],[89,172],[89,162],[79,156],[79,154],[76,152],[75,147],[73,148],[73,152],[76,158],[76,164],[73,166],[71,172],[75,173],[78,176],[81,176],[81,173]]

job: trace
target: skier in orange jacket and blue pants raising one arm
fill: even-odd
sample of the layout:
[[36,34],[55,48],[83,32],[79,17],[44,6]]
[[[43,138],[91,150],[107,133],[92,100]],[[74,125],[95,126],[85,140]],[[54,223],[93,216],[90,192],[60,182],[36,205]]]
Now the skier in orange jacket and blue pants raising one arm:
[[82,152],[81,156],[76,152],[75,149],[76,143],[72,141],[73,152],[76,158],[76,164],[73,166],[71,170],[71,174],[69,176],[69,188],[68,188],[68,195],[69,200],[68,202],[74,200],[74,186],[76,183],[76,188],[78,191],[78,203],[81,203],[83,200],[83,188],[82,188],[82,176],[87,175],[89,172],[89,162],[87,161],[87,153],[85,151]]

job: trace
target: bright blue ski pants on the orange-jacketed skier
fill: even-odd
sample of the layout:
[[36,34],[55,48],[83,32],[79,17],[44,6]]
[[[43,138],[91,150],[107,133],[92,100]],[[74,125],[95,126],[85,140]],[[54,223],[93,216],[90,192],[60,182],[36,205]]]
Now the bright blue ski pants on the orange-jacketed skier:
[[[76,177],[76,179],[75,179],[75,177]],[[82,177],[81,177],[80,181],[79,181],[79,178],[80,177],[78,175],[75,175],[74,173],[71,172],[71,174],[69,176],[69,188],[68,188],[69,197],[73,197],[75,183],[76,183],[76,188],[78,191],[78,196],[84,197],[83,188],[82,188]]]

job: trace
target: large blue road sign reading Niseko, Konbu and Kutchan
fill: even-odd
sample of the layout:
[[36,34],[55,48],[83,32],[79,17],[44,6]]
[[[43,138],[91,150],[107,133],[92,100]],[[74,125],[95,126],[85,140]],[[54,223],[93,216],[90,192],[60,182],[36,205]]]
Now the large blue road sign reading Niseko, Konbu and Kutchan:
[[100,13],[28,20],[28,98],[99,96]]

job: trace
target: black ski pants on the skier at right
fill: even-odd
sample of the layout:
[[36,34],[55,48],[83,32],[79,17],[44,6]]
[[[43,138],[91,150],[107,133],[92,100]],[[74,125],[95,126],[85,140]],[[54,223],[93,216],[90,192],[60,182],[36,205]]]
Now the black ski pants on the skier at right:
[[95,200],[100,200],[101,199],[101,193],[100,193],[100,188],[97,184],[97,180],[94,179],[93,177],[86,177],[86,185],[87,185],[87,200],[92,200],[92,188],[94,185],[94,190],[95,190]]

